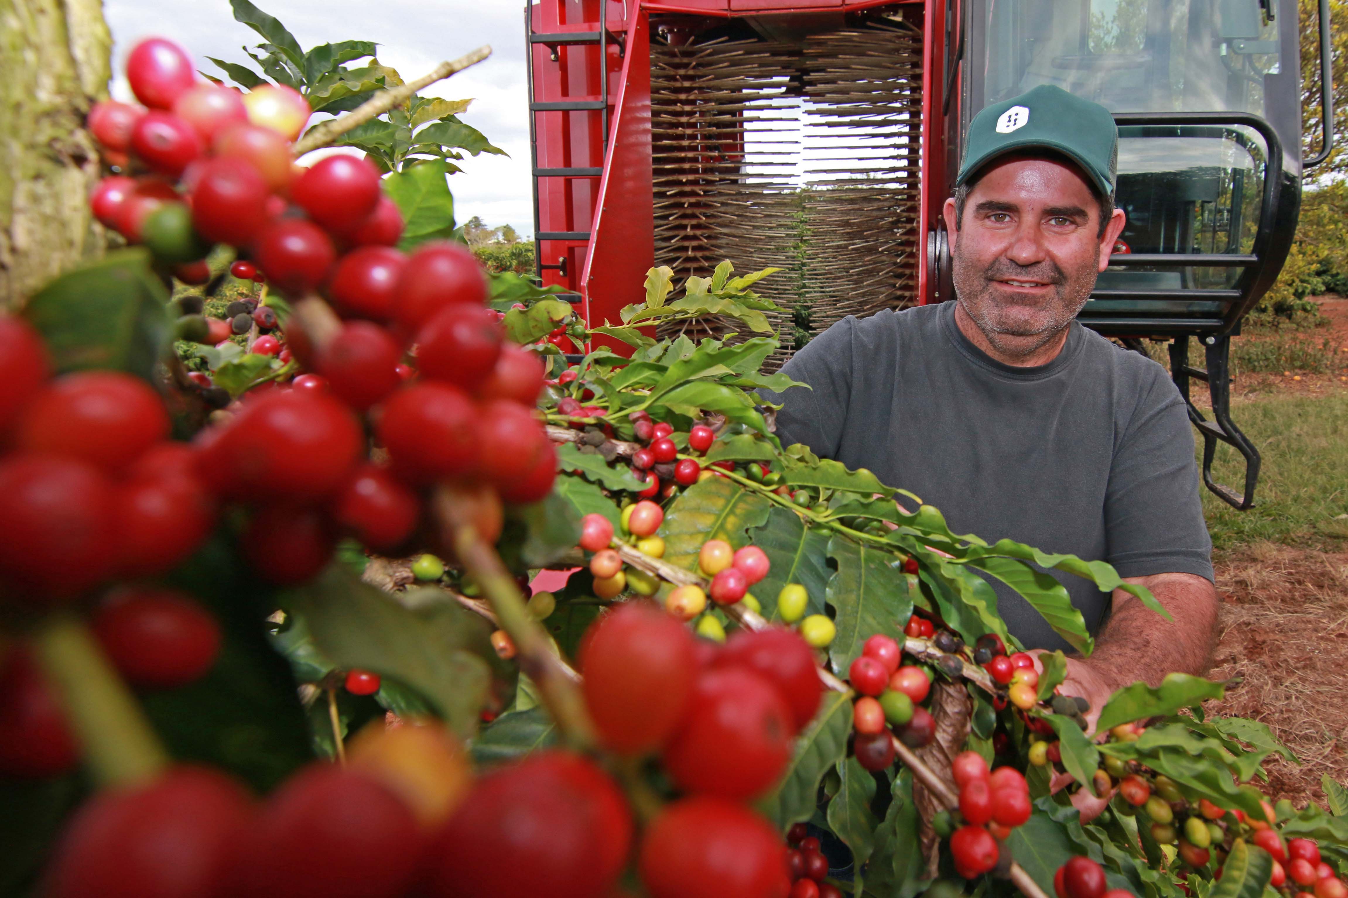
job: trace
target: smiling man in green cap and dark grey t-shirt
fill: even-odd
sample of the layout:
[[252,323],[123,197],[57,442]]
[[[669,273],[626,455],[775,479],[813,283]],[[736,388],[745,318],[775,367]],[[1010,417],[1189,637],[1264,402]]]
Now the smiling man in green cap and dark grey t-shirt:
[[[1109,113],[1060,88],[980,112],[944,210],[957,302],[845,318],[783,369],[813,389],[768,394],[783,444],[871,469],[953,532],[1103,559],[1151,590],[1173,622],[1053,572],[1096,634],[1065,684],[1092,719],[1128,683],[1205,672],[1217,618],[1184,400],[1074,320],[1123,230],[1116,159]],[[1016,638],[1068,648],[993,587]]]

